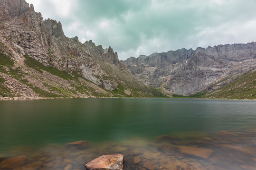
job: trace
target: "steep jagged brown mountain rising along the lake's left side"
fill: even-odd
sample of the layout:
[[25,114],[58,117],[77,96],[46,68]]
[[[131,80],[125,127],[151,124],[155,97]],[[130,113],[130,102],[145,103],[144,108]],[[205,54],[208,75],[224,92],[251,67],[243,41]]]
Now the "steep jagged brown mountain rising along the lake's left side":
[[25,0],[0,0],[0,95],[6,97],[161,97],[109,47],[65,36]]

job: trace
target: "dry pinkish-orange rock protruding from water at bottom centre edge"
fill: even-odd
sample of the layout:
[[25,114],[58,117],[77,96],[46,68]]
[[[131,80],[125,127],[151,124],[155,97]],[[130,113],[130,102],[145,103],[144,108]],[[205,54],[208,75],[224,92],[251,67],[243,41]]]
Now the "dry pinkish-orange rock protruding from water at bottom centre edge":
[[123,170],[123,155],[102,155],[85,165],[86,170]]

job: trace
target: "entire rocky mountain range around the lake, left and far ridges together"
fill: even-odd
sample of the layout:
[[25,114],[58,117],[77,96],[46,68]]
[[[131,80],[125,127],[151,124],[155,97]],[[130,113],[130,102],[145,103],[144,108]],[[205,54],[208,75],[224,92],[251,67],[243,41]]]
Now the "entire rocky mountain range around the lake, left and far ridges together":
[[[255,70],[255,42],[119,61],[111,47],[66,37],[60,22],[43,20],[25,0],[0,0],[0,98],[194,95],[254,99]],[[220,93],[232,90],[232,82],[239,78],[245,82],[235,86],[247,85],[247,93]],[[226,85],[231,87],[225,90]]]

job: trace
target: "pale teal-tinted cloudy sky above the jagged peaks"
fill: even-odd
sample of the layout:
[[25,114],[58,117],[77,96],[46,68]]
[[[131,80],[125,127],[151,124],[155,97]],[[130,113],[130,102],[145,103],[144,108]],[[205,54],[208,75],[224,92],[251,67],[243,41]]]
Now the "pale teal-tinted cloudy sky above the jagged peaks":
[[111,46],[119,59],[256,41],[256,0],[27,0],[67,37]]

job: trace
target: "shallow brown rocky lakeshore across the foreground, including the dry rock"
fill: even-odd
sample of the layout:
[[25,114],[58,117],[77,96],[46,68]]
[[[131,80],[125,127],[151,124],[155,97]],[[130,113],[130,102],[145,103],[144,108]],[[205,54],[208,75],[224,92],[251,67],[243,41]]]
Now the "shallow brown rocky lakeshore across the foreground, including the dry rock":
[[0,170],[256,170],[255,139],[256,129],[19,146],[0,155]]

